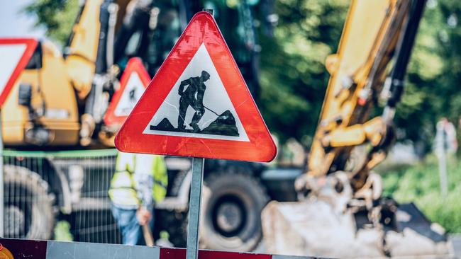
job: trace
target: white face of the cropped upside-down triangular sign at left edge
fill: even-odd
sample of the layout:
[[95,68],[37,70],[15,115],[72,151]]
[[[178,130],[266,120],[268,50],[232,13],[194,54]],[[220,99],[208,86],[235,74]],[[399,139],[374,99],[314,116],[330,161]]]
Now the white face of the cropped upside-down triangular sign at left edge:
[[26,47],[26,44],[0,45],[0,93],[23,57]]

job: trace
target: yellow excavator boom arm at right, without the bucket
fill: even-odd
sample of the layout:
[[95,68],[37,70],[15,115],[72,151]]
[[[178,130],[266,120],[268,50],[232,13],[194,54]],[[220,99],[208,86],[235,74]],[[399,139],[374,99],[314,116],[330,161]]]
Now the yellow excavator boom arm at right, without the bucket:
[[[381,117],[369,120],[371,100],[382,89],[387,64],[410,4],[411,1],[401,0],[352,0],[338,53],[326,62],[331,78],[311,146],[307,175],[343,171],[354,146],[370,143],[377,147],[383,142],[388,126]],[[381,161],[383,153],[378,153]],[[366,165],[370,161],[376,164],[376,157],[367,156],[364,168],[369,168]],[[357,178],[366,178],[368,171],[355,173],[365,174]],[[360,183],[357,188],[365,181]]]

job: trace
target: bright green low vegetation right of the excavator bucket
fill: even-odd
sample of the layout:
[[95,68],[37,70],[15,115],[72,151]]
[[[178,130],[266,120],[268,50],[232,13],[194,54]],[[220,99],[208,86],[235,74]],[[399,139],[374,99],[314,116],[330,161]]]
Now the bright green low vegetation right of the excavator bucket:
[[438,222],[446,231],[461,233],[461,161],[448,160],[448,195],[440,193],[438,163],[435,156],[414,166],[380,166],[384,180],[384,196],[398,202],[414,202],[423,213]]

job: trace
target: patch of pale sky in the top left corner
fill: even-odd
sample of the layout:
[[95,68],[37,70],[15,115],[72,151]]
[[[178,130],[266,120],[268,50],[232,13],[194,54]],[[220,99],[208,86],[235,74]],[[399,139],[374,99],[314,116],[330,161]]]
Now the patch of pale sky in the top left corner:
[[33,0],[0,0],[0,37],[43,38],[45,30],[34,28],[35,17],[20,13]]

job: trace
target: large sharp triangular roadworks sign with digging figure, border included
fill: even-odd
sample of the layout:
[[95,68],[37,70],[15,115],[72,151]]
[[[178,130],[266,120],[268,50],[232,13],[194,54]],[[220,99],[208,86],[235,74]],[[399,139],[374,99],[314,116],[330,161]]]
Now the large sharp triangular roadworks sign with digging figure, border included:
[[213,16],[197,13],[116,136],[120,151],[271,161],[264,120]]

